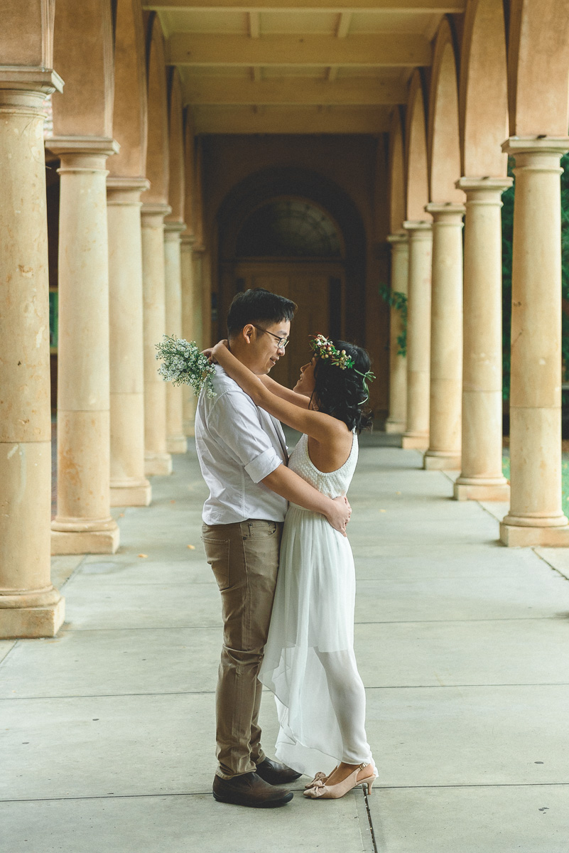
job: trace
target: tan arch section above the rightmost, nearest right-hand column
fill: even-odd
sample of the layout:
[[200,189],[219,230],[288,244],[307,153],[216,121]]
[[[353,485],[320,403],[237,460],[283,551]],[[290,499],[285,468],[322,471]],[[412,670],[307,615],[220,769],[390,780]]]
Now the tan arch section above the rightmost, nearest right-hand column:
[[559,0],[513,0],[509,20],[510,136],[566,136],[569,9]]

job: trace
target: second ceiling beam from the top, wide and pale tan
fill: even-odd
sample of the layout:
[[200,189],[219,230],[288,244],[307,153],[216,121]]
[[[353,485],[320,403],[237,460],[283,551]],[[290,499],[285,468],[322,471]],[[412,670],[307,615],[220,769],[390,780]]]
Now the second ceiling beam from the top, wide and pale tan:
[[267,35],[261,38],[174,32],[166,50],[170,65],[371,66],[431,64],[431,45],[414,34],[335,36]]

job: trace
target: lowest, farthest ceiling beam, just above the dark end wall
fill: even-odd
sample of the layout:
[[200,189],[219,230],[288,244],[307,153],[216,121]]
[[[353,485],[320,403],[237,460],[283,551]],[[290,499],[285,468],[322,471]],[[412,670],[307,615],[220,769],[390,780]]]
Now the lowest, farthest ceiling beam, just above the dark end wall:
[[195,107],[200,133],[385,133],[389,107]]

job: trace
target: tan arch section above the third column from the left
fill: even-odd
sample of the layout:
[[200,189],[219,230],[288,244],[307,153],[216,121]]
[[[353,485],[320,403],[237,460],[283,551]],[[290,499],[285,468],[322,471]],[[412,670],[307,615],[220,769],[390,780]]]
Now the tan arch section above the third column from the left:
[[118,0],[114,73],[112,132],[120,151],[108,161],[109,173],[143,178],[147,168],[148,105],[144,24],[137,0]]

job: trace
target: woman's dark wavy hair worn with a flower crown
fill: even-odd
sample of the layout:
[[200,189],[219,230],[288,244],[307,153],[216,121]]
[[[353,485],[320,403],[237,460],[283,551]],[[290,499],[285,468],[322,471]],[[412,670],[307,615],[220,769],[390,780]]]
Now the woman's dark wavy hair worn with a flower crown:
[[319,412],[332,415],[343,421],[348,429],[359,433],[371,427],[371,412],[365,405],[369,402],[366,397],[363,376],[371,367],[370,357],[365,350],[345,340],[331,339],[336,350],[345,350],[353,358],[353,368],[342,368],[330,364],[323,358],[317,358],[314,366],[313,398],[318,404]]

